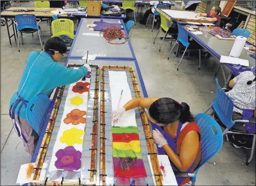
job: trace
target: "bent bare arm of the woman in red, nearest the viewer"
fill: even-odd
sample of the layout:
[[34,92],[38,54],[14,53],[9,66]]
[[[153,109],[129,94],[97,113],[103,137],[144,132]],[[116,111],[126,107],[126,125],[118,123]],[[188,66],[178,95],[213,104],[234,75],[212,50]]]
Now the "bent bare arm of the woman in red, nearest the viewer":
[[171,147],[166,144],[162,146],[173,164],[182,172],[186,172],[193,164],[199,145],[199,136],[197,131],[190,131],[186,134],[181,144],[180,154],[176,154]]

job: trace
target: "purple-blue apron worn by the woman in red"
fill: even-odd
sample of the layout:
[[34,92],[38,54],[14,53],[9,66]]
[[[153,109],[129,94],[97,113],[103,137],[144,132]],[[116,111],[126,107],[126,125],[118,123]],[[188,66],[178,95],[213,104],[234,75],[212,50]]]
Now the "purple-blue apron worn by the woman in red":
[[[188,123],[188,125],[189,125],[189,123]],[[176,135],[176,137],[175,137],[174,139],[171,138],[171,136],[168,135],[166,132],[164,132],[164,130],[162,129],[162,127],[158,126],[157,124],[152,123],[152,129],[156,129],[156,128],[157,128],[159,131],[161,131],[161,133],[164,135],[164,137],[165,137],[165,139],[167,140],[167,142],[168,142],[169,146],[171,147],[171,149],[172,149],[176,154],[178,154],[178,152],[177,152],[177,147],[178,147],[178,146],[177,146],[177,141],[178,141],[178,138],[179,138],[181,129],[182,129],[182,123],[179,122],[179,124],[178,124],[178,129],[177,129],[177,135]],[[164,150],[163,148],[157,146],[157,150],[158,150],[158,154],[167,155],[167,154],[165,153],[165,150]],[[168,158],[169,158],[169,157],[168,157]],[[170,163],[171,163],[171,166],[172,166],[173,171],[179,171],[179,170],[176,168],[176,166],[171,162],[170,159],[169,159],[169,161],[170,161]],[[195,159],[195,161],[193,162],[193,164],[190,166],[190,168],[186,171],[187,173],[191,173],[191,171],[194,169],[194,164],[195,164],[195,162],[196,162],[196,159]],[[178,185],[185,184],[186,182],[183,183],[183,182],[185,181],[185,179],[186,179],[186,180],[189,179],[187,182],[190,181],[190,178],[176,178]]]

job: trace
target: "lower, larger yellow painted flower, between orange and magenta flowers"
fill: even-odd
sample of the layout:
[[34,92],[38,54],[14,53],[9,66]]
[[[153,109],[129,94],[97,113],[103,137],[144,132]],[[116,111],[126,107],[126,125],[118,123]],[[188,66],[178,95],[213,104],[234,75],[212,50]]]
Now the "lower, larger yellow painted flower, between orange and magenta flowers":
[[81,136],[84,135],[83,130],[78,130],[76,128],[71,128],[70,130],[66,130],[63,132],[62,137],[60,138],[60,141],[62,143],[66,143],[68,146],[72,146],[76,143],[82,144],[83,139],[81,139]]

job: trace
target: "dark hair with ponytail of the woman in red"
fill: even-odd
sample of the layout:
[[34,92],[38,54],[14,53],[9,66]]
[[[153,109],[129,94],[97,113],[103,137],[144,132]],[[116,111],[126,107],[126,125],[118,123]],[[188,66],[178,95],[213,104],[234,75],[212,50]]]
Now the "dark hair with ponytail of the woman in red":
[[169,124],[179,120],[181,123],[194,121],[190,107],[186,103],[179,104],[171,98],[160,98],[149,107],[149,115],[156,123]]

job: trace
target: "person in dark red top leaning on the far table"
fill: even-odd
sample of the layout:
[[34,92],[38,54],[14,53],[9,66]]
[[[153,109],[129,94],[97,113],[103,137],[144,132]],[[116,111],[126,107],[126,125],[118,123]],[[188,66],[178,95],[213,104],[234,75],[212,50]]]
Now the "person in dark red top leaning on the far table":
[[207,14],[198,13],[196,17],[199,17],[199,16],[203,17],[202,19],[214,22],[214,24],[219,27],[220,19],[221,19],[221,17],[219,16],[220,14],[221,14],[221,8],[219,6],[214,6],[213,8],[211,8],[210,13],[207,13]]

